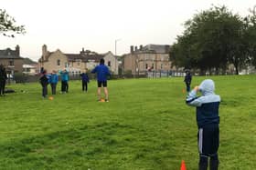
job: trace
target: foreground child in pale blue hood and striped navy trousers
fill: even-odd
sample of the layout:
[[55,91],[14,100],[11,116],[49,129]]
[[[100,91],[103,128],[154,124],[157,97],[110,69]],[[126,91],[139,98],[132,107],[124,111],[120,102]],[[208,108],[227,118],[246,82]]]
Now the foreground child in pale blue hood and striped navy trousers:
[[[219,166],[219,103],[220,96],[214,94],[215,85],[210,79],[204,80],[187,95],[187,105],[197,107],[197,145],[199,170],[217,170]],[[197,97],[197,92],[202,95]]]

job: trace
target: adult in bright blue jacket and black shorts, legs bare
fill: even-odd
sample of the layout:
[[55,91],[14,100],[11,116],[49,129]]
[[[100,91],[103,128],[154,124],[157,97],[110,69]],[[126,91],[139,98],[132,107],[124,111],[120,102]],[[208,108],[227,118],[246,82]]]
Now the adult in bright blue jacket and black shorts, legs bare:
[[105,61],[101,58],[100,65],[97,65],[92,71],[92,74],[97,74],[98,81],[98,101],[101,101],[101,86],[104,88],[105,102],[109,102],[109,92],[107,87],[107,76],[111,75],[109,68],[104,65]]

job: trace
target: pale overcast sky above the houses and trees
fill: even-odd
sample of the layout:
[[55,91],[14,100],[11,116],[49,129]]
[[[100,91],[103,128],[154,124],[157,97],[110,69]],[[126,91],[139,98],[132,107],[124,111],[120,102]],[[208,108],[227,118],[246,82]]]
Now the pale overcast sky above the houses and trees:
[[249,15],[255,0],[0,0],[0,8],[25,25],[27,34],[0,35],[0,49],[20,46],[34,61],[48,51],[78,54],[88,49],[123,55],[130,45],[172,45],[184,23],[212,5]]

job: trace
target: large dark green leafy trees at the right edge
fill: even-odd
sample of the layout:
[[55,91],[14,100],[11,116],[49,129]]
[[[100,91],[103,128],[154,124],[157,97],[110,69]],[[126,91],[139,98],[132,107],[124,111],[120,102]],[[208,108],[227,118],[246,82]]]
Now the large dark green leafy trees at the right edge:
[[170,60],[177,67],[226,71],[233,65],[256,65],[256,6],[249,15],[233,14],[226,6],[212,6],[187,20],[183,35],[171,45]]

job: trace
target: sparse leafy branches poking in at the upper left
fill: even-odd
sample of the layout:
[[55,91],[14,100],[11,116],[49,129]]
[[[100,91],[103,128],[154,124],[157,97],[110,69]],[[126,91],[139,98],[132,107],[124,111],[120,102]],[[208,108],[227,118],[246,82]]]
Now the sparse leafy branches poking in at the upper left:
[[14,34],[25,34],[26,31],[24,25],[16,25],[16,20],[8,15],[5,10],[0,9],[0,33],[15,37]]

